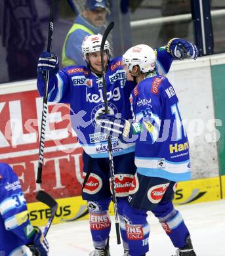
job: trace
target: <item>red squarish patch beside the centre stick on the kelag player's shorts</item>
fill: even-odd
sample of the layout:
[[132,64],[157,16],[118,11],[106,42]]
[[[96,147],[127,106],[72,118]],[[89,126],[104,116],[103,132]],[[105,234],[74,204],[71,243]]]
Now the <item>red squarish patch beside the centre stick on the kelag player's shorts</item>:
[[[128,196],[133,178],[134,178],[134,175],[131,175],[131,174],[116,174],[114,176],[116,196]],[[110,190],[112,192],[111,179],[110,179]]]

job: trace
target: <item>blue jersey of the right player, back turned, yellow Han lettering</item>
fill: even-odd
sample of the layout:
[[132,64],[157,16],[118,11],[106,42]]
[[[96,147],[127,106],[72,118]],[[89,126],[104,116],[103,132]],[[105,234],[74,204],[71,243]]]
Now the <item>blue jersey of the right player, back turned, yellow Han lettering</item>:
[[137,172],[170,181],[190,179],[189,145],[178,98],[166,77],[153,74],[130,97],[134,119],[142,133],[135,146]]

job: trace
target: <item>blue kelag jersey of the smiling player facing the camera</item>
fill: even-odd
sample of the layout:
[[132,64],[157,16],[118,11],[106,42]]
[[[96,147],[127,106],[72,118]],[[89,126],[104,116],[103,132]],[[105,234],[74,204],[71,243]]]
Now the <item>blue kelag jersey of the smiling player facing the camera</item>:
[[[173,58],[165,49],[157,51],[157,70],[167,73]],[[131,119],[129,95],[136,85],[127,81],[122,58],[114,58],[106,71],[108,108],[110,114]],[[44,94],[44,81],[37,79],[39,94]],[[69,66],[60,70],[49,81],[48,100],[70,103],[72,127],[79,143],[92,158],[108,158],[106,134],[100,131],[96,117],[104,111],[102,77],[86,66]],[[134,151],[134,143],[112,139],[113,156]]]

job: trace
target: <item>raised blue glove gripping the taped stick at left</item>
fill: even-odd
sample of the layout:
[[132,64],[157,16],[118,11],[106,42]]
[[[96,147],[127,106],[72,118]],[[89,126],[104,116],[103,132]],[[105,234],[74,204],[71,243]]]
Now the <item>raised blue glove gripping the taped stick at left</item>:
[[58,72],[58,57],[54,53],[42,52],[37,62],[37,75],[44,79],[49,70],[49,78]]

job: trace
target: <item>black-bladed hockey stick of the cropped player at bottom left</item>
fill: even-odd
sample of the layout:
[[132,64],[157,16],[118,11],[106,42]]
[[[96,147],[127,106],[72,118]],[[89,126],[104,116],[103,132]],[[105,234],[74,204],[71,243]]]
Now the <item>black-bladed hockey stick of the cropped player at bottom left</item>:
[[56,211],[58,208],[58,203],[56,202],[56,200],[54,200],[49,194],[47,194],[43,190],[39,190],[39,192],[37,192],[36,199],[41,203],[45,203],[46,205],[48,205],[51,208],[51,217],[49,218],[49,220],[45,226],[45,229],[43,231],[44,236],[47,236],[49,228],[54,219],[54,215],[56,214]]

